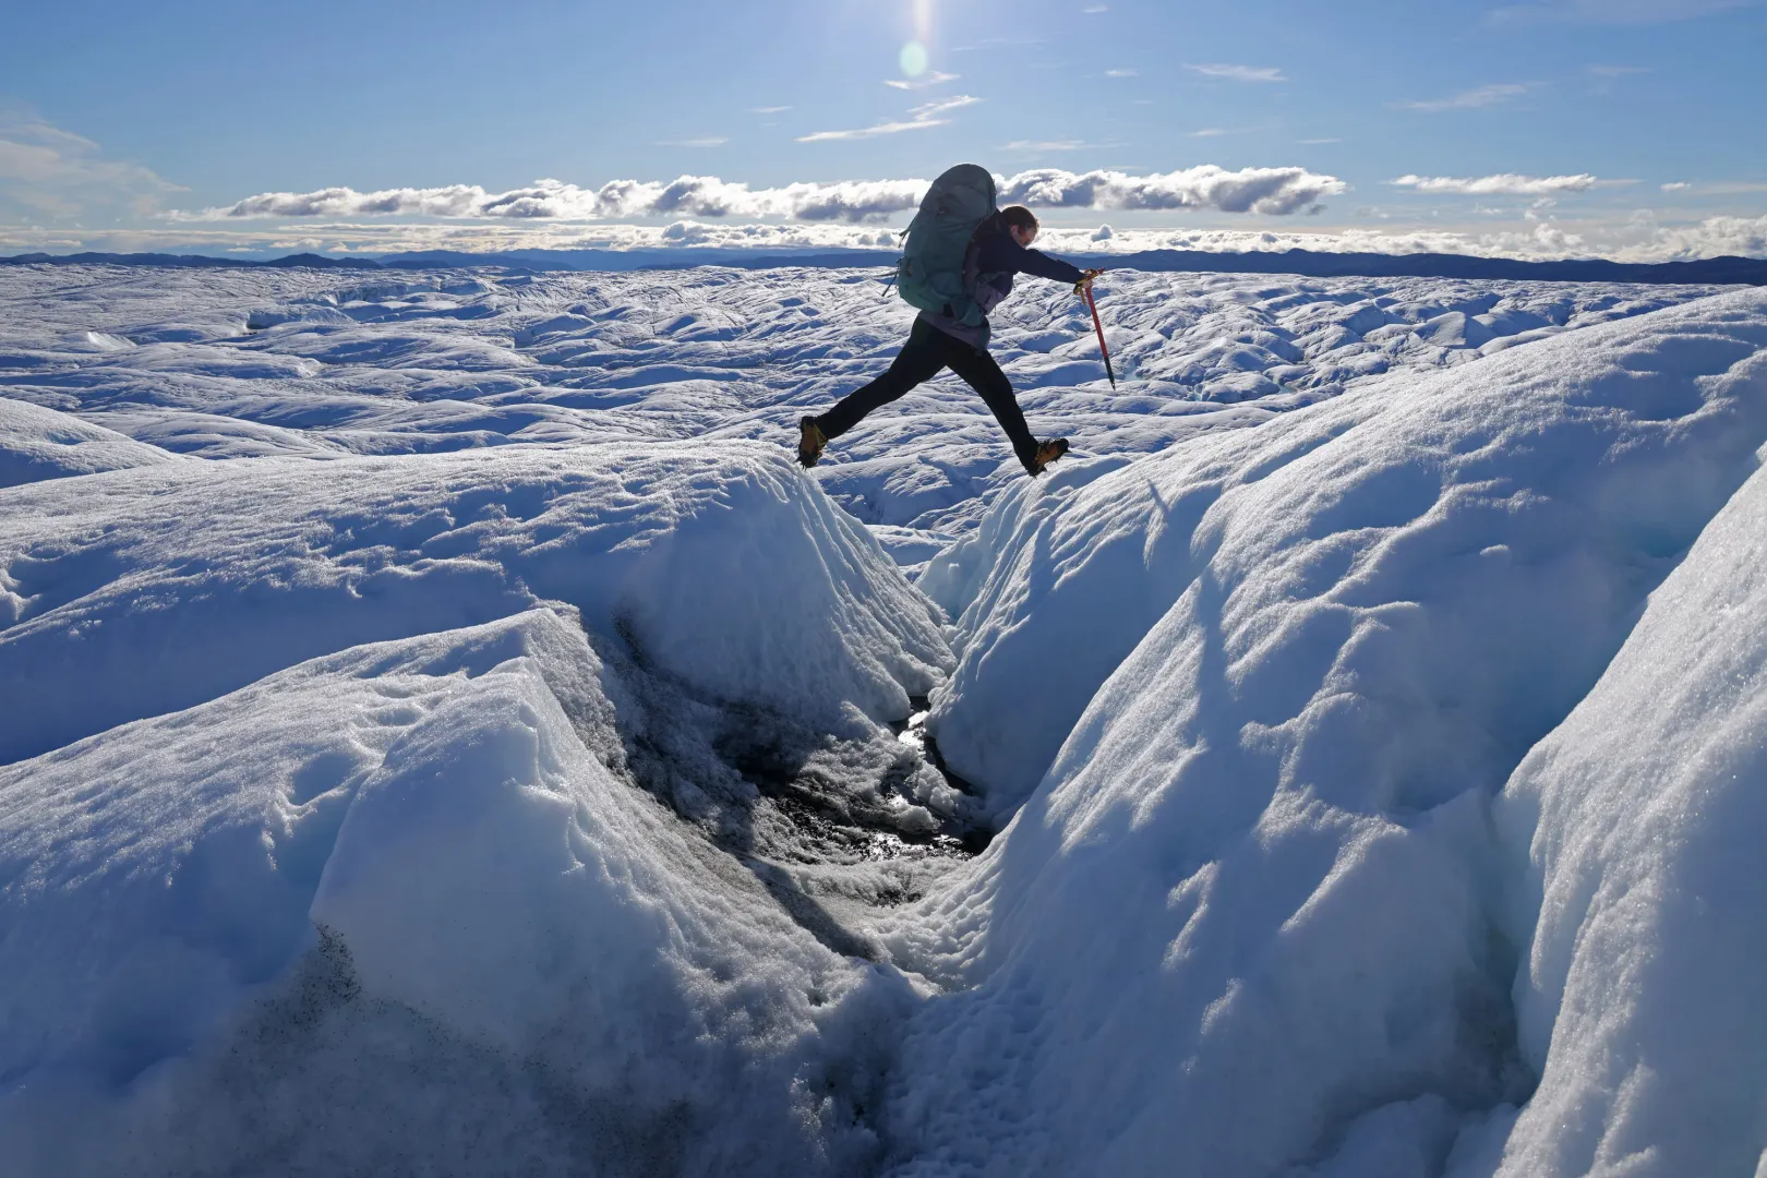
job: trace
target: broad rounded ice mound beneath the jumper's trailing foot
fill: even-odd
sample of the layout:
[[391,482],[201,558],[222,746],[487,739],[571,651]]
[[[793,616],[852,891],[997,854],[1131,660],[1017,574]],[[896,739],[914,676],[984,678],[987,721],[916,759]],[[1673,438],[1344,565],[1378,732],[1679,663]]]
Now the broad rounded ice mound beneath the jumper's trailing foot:
[[178,463],[0,491],[0,763],[537,600],[804,717],[908,715],[949,657],[779,447]]

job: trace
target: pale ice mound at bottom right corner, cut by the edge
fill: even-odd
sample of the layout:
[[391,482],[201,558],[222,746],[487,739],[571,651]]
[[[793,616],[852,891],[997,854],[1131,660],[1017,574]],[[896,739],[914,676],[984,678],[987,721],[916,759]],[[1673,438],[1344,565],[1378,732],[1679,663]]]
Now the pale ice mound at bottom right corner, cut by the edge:
[[[1504,1174],[1751,1174],[1767,1152],[1767,473],[1516,770],[1514,929],[1539,1090]],[[1532,934],[1532,936],[1530,936]]]

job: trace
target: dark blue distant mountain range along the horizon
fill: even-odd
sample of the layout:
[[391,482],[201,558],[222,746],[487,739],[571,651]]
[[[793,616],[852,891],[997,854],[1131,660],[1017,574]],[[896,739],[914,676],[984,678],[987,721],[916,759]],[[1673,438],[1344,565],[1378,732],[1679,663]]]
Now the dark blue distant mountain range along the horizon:
[[[456,267],[505,267],[511,270],[686,270],[719,265],[746,270],[777,267],[891,267],[892,249],[827,249],[802,253],[758,253],[753,249],[511,249],[468,254],[431,249],[380,258],[327,258],[290,254],[270,261],[210,258],[203,254],[18,254],[0,265],[120,265],[120,267],[316,267],[327,270],[449,270]],[[1117,270],[1202,270],[1216,274],[1299,274],[1304,277],[1460,277],[1530,279],[1546,283],[1698,283],[1767,286],[1767,258],[1702,258],[1698,261],[1516,261],[1467,254],[1323,254],[1308,249],[1285,253],[1216,254],[1186,249],[1149,249],[1133,254],[1073,254],[1076,265]]]

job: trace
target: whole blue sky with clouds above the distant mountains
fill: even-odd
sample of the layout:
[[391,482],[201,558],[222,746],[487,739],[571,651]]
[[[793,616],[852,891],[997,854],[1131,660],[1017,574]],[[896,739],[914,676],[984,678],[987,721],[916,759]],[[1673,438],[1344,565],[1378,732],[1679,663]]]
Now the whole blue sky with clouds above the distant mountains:
[[[1758,2],[60,0],[7,25],[7,253],[873,244],[908,182],[975,161],[1050,173],[1021,191],[1051,240],[1767,254]],[[684,175],[716,180],[666,194]]]

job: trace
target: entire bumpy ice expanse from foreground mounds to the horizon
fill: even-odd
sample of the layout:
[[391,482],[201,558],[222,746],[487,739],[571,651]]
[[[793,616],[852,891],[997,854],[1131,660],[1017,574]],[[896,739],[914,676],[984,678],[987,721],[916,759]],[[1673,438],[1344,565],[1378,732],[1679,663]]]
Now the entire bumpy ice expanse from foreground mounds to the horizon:
[[876,279],[0,270],[0,1167],[1758,1173],[1767,293]]

